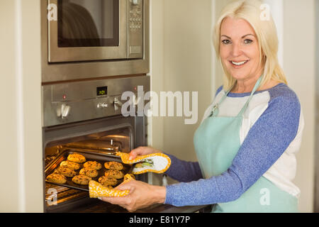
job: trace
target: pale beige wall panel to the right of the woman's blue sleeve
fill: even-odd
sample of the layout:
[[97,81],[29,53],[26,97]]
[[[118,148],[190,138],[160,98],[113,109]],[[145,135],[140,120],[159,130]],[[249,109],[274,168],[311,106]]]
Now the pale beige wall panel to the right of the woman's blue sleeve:
[[[306,38],[306,40],[305,40]],[[301,101],[305,129],[297,155],[299,207],[313,211],[315,132],[315,1],[284,1],[284,72]]]

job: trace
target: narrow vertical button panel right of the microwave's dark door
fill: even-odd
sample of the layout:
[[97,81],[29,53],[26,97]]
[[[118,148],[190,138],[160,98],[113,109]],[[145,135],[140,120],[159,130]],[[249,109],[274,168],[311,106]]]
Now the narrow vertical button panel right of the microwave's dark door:
[[143,0],[128,0],[128,58],[143,57]]

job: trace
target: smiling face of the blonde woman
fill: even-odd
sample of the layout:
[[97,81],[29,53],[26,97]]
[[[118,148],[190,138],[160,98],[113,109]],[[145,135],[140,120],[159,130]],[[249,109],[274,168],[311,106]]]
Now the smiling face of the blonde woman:
[[220,27],[220,59],[228,73],[238,82],[258,79],[263,66],[259,65],[259,44],[250,23],[227,17]]

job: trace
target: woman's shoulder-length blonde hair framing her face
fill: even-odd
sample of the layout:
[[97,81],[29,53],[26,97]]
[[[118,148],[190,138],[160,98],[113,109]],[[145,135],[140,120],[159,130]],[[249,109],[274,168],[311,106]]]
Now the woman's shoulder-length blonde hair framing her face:
[[[264,66],[264,76],[261,86],[274,79],[276,82],[287,84],[284,71],[281,69],[277,52],[278,52],[278,37],[276,26],[271,15],[269,20],[262,20],[262,2],[259,0],[240,0],[225,6],[221,12],[220,18],[216,22],[213,32],[213,45],[216,50],[216,55],[220,60],[220,27],[226,17],[234,19],[244,19],[254,29],[259,43],[259,64]],[[220,60],[223,66],[223,63]],[[223,66],[225,74],[224,86],[225,90],[230,89],[235,84],[236,80],[227,72]]]

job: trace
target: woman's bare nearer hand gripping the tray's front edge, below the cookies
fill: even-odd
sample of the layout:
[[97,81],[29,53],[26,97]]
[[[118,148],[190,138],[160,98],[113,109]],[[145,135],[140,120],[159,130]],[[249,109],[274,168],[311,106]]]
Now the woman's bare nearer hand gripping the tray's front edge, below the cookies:
[[123,197],[102,197],[99,199],[122,206],[129,212],[145,208],[152,204],[164,204],[166,196],[165,187],[147,184],[138,180],[122,183],[115,189],[130,190],[130,193]]

